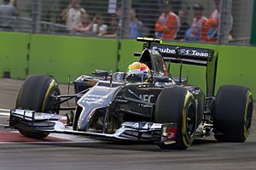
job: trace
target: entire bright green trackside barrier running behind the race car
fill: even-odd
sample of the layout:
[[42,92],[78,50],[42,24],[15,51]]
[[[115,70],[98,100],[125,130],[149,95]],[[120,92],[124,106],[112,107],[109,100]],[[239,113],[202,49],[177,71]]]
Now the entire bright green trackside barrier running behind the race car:
[[[118,59],[118,43],[120,50]],[[218,51],[217,87],[239,84],[256,93],[256,48],[218,46],[186,42],[168,42],[181,46],[212,48]],[[134,52],[142,51],[142,42],[131,39],[66,37],[26,33],[0,32],[0,74],[26,78],[29,74],[45,74],[58,82],[67,82],[95,69],[125,71],[136,61]],[[171,65],[171,75],[178,76],[179,65]],[[206,88],[206,70],[195,65],[183,66],[183,77],[190,84]]]

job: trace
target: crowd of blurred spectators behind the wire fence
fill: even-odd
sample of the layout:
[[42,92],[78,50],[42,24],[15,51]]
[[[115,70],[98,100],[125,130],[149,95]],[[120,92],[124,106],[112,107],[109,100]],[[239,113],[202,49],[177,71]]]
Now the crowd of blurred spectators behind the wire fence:
[[[204,7],[200,3],[193,6],[194,18],[189,24],[186,20],[186,10],[176,10],[172,1],[166,1],[163,11],[158,18],[150,15],[150,10],[141,12],[143,6],[131,8],[129,11],[129,25],[125,37],[157,37],[167,40],[216,42],[218,38],[218,24],[220,20],[220,1],[212,0],[215,10],[210,16],[204,15]],[[15,0],[3,0],[0,6],[0,28],[13,29],[13,18],[18,15]],[[140,12],[140,14],[137,14]],[[119,37],[122,28],[122,10],[117,8],[115,13],[105,17],[103,14],[90,15],[83,8],[79,0],[71,0],[67,8],[60,14],[66,23],[67,31],[88,36]],[[230,16],[230,31],[233,19]],[[230,36],[230,40],[232,37]]]

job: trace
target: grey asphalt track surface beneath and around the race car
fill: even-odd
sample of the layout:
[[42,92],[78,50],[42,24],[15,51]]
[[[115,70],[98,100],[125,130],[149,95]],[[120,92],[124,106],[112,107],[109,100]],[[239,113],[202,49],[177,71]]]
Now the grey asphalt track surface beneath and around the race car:
[[[0,108],[14,108],[22,81],[0,79]],[[62,85],[64,94],[67,86]],[[254,107],[255,112],[256,107]],[[0,110],[0,170],[45,169],[256,169],[256,116],[245,143],[196,139],[189,150],[160,150],[154,144],[119,144],[76,136],[32,140],[4,128],[8,112]]]

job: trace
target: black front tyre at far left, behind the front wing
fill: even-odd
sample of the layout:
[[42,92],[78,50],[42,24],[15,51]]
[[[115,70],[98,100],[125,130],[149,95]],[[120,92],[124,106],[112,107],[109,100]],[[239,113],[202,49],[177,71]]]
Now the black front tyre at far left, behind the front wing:
[[[59,105],[52,97],[59,94],[58,83],[52,77],[32,75],[22,84],[15,108],[58,113]],[[27,127],[19,127],[18,130],[21,134],[35,139],[43,139],[49,135],[49,133],[35,132]]]

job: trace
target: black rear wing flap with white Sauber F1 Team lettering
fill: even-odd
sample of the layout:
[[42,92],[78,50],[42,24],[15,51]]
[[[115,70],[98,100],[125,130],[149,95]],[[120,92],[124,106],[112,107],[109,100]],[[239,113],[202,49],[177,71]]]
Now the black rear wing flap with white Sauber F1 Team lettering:
[[150,48],[157,50],[164,60],[189,65],[204,65],[212,61],[214,50],[207,48],[190,48],[151,43]]

